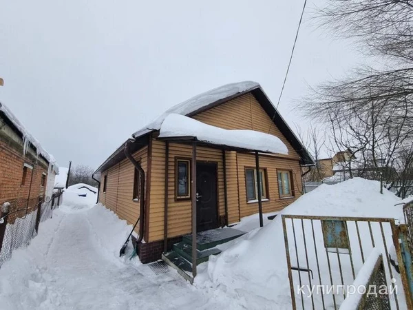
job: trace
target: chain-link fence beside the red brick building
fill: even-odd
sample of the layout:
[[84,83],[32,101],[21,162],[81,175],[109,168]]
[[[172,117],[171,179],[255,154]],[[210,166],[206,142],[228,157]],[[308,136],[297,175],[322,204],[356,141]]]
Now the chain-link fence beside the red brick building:
[[61,191],[43,200],[42,197],[14,199],[3,203],[0,217],[0,267],[12,251],[27,246],[37,235],[39,224],[52,217],[61,203]]

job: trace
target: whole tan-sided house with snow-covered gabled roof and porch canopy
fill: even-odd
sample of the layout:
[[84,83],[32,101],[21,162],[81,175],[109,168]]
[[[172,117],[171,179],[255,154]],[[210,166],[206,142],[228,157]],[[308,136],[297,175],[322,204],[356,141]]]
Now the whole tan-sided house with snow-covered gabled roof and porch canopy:
[[100,203],[129,224],[140,216],[142,262],[159,259],[194,229],[283,209],[302,194],[301,166],[314,164],[255,82],[195,96],[133,137],[94,175]]

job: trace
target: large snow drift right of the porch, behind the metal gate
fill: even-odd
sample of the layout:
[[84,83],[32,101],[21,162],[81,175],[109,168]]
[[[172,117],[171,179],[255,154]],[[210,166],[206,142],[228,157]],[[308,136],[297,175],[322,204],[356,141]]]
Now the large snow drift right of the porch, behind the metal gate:
[[[336,185],[320,185],[313,192],[301,196],[280,214],[402,218],[401,205],[394,206],[399,202],[400,199],[391,192],[385,191],[379,194],[379,182],[354,178]],[[301,240],[303,236],[301,227],[296,229],[299,229],[297,240]],[[368,231],[363,229],[361,234],[369,236]],[[380,231],[378,234],[381,236]],[[310,231],[308,236],[311,236]],[[386,231],[386,238],[390,245],[392,236],[388,231]],[[290,253],[294,251],[291,248],[292,243],[290,243]],[[324,248],[322,236],[317,236],[317,244]],[[365,255],[367,257],[369,253],[366,252]],[[316,277],[315,258],[309,259],[310,268],[313,269]],[[299,260],[300,266],[306,266],[304,252],[301,253]],[[321,273],[323,273],[321,277],[324,279],[328,277],[326,265],[326,262],[325,265],[324,261],[321,262]],[[337,266],[333,265],[332,270],[337,276]],[[294,274],[297,276],[297,273]],[[301,278],[307,278],[306,273],[301,274],[303,275]],[[351,277],[351,274],[346,276]],[[233,245],[222,254],[211,256],[209,262],[200,265],[195,285],[212,291],[211,293],[215,295],[226,294],[238,298],[240,304],[248,309],[265,307],[291,309],[282,217],[278,215],[272,223],[261,229],[254,229],[235,240]],[[310,302],[310,298],[306,298],[306,302]],[[307,306],[311,308],[311,304]],[[316,309],[322,309],[322,305],[317,304]]]

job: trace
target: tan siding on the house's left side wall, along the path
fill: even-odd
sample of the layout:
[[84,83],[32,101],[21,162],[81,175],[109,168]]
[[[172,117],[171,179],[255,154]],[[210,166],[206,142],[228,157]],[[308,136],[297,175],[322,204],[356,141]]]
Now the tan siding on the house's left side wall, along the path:
[[[134,154],[136,161],[140,161],[142,168],[147,172],[147,147]],[[100,177],[99,202],[116,212],[120,219],[133,225],[139,216],[139,203],[132,200],[134,192],[134,165],[125,158],[120,163],[110,167]],[[103,179],[107,175],[106,193],[103,193]],[[136,230],[138,227],[136,228]]]

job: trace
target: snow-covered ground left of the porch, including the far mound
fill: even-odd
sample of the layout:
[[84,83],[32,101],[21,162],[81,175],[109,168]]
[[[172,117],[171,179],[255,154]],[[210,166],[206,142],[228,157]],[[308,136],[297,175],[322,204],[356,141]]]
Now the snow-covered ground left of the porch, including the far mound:
[[0,309],[240,309],[195,289],[173,269],[157,276],[129,260],[131,246],[119,258],[131,226],[94,206],[89,193],[80,197],[70,187],[38,236],[3,264]]

